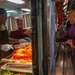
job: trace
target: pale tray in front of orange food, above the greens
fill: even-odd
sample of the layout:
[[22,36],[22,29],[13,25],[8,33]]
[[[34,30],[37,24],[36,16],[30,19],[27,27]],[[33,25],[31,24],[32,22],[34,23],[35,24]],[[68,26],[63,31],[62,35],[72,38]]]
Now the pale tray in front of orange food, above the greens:
[[12,67],[8,63],[6,63],[1,67],[1,70],[32,73],[32,66],[30,66],[30,67]]

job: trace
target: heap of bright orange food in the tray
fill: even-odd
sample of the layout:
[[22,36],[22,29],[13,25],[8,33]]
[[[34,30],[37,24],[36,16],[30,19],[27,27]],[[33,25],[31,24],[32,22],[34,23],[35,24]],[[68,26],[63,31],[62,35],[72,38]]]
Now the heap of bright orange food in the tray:
[[12,59],[14,60],[25,60],[27,62],[32,61],[32,49],[30,46],[25,48],[17,49],[12,54]]

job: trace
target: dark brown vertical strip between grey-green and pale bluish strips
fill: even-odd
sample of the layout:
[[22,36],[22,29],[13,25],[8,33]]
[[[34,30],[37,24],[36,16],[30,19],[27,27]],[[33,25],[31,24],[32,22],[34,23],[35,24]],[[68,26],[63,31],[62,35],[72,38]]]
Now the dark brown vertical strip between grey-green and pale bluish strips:
[[47,0],[42,0],[42,29],[43,29],[43,73],[48,75],[48,33],[47,33]]

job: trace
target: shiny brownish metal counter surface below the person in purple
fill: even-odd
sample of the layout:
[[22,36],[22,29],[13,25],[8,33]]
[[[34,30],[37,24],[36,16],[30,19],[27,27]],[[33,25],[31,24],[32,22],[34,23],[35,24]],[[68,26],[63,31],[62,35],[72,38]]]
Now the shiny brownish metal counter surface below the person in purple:
[[[64,46],[64,49],[62,48]],[[75,75],[73,72],[73,54],[70,47],[62,44],[58,51],[58,57],[55,65],[55,75]]]

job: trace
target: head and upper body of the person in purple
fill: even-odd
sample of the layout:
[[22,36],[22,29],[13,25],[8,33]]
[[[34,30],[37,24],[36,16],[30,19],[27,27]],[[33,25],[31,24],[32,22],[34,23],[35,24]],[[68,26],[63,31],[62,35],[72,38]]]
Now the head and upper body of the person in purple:
[[64,36],[56,38],[56,42],[66,42],[75,51],[75,10],[72,10],[68,14],[68,20],[70,22],[70,27]]

